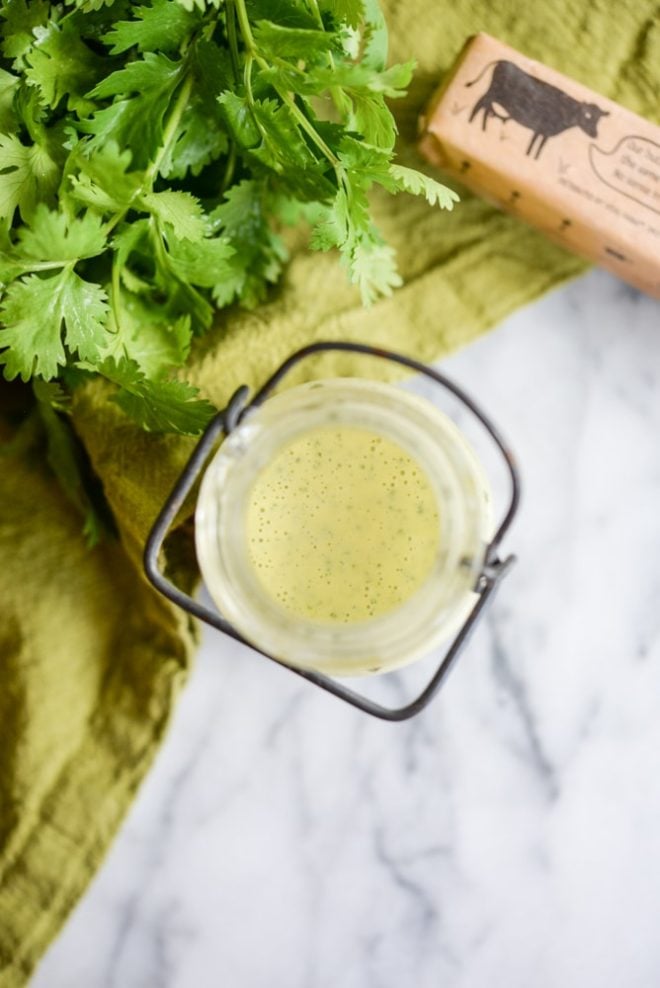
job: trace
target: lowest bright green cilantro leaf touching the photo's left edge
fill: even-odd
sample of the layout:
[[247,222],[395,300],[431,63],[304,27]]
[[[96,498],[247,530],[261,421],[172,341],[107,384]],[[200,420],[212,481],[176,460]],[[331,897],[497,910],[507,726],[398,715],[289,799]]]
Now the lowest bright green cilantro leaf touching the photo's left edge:
[[62,340],[82,359],[92,360],[103,345],[106,293],[83,281],[71,268],[40,278],[31,274],[9,286],[0,317],[0,363],[5,377],[55,377],[66,360]]

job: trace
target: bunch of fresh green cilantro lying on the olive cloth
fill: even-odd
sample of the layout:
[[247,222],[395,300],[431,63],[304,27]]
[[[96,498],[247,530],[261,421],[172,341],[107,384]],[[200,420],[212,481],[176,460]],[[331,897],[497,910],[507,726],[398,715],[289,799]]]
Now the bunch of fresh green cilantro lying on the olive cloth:
[[1,0],[0,34],[0,362],[53,415],[97,374],[145,428],[200,431],[175,375],[265,298],[283,223],[369,303],[400,283],[370,187],[452,206],[392,163],[413,66],[386,67],[377,0]]

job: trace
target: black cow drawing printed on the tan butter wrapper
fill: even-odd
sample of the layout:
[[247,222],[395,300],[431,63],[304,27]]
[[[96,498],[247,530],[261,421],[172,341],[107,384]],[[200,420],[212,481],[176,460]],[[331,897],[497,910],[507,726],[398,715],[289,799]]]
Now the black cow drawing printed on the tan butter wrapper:
[[532,139],[526,153],[531,154],[536,144],[535,158],[538,158],[549,137],[555,137],[571,127],[579,127],[589,137],[598,137],[598,122],[601,117],[608,116],[607,110],[601,110],[595,103],[573,99],[556,86],[529,75],[513,62],[503,59],[490,62],[466,86],[474,86],[491,66],[494,68],[490,86],[475,103],[470,122],[481,110],[483,130],[491,116],[505,122],[515,120],[528,127],[532,131]]

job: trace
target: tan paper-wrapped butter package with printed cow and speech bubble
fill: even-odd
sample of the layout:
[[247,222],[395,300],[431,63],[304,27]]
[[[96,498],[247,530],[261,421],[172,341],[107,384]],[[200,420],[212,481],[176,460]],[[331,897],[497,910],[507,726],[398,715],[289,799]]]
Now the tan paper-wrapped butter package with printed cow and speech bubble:
[[479,34],[420,130],[429,161],[660,298],[660,127]]

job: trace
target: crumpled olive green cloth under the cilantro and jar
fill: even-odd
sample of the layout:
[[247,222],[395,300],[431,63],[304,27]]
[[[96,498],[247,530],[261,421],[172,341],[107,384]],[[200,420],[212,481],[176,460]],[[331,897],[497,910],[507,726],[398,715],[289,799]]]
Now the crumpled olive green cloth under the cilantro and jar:
[[[386,9],[393,58],[414,55],[419,65],[397,107],[405,163],[419,164],[419,109],[478,30],[657,119],[657,0],[387,0]],[[403,288],[364,311],[334,258],[295,252],[272,300],[223,314],[194,354],[193,379],[212,401],[222,405],[239,383],[256,384],[314,339],[437,359],[584,267],[467,194],[452,214],[405,196],[383,197],[377,210],[398,247]],[[341,357],[307,373],[355,371]],[[0,457],[3,988],[26,983],[101,862],[153,760],[195,642],[186,615],[140,571],[145,533],[190,442],[139,433],[102,386],[78,396],[74,422],[116,516],[117,542],[84,547],[38,429],[14,432]],[[178,536],[170,562],[190,586],[189,522]]]

